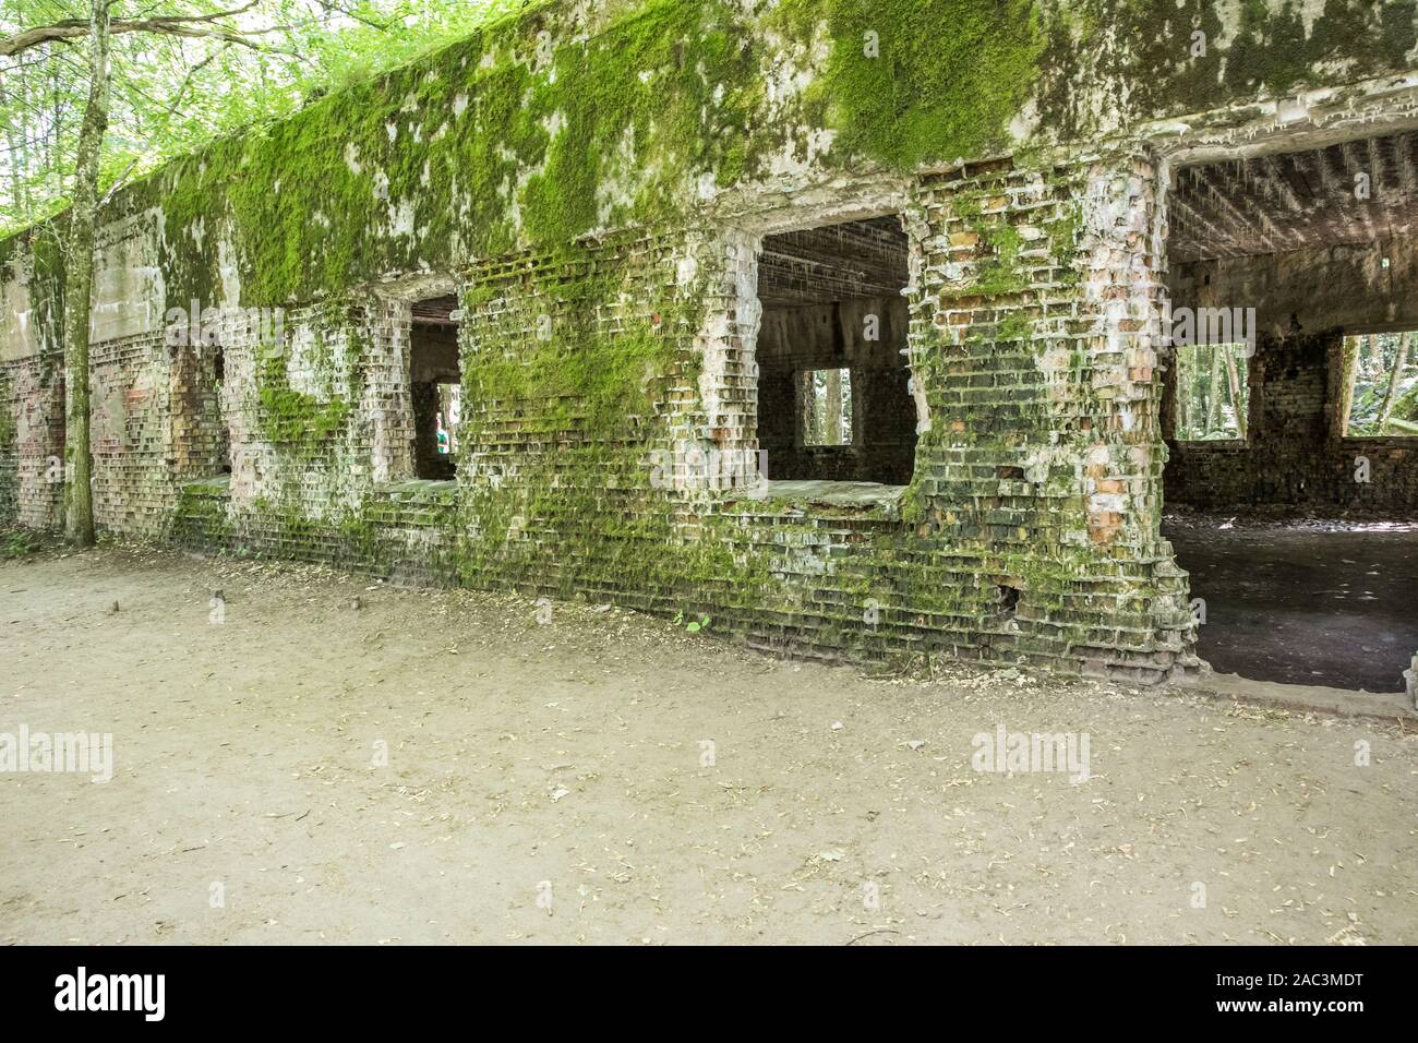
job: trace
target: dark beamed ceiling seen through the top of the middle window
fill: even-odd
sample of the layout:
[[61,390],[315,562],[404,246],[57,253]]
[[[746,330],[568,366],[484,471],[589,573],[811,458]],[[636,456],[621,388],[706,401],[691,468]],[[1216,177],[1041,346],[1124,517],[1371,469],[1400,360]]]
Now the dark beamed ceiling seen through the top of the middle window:
[[764,308],[896,297],[906,285],[906,233],[895,216],[763,237]]

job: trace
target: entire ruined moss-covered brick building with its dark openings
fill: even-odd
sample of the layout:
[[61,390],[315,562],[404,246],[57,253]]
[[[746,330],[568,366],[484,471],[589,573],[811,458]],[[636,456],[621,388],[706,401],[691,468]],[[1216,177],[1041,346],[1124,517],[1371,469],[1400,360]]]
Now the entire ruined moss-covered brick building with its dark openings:
[[[1185,674],[1164,492],[1418,507],[1343,417],[1418,328],[1415,133],[1414,0],[533,4],[109,204],[98,522]],[[54,228],[0,261],[0,524],[54,528]],[[1255,309],[1244,437],[1173,437],[1181,308]]]

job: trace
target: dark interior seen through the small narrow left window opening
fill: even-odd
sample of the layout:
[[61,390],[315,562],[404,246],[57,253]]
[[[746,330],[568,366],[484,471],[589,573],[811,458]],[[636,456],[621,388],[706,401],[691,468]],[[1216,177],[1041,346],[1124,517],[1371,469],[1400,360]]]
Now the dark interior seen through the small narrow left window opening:
[[457,474],[457,429],[462,370],[458,363],[455,295],[413,307],[408,387],[414,409],[414,475],[447,481]]

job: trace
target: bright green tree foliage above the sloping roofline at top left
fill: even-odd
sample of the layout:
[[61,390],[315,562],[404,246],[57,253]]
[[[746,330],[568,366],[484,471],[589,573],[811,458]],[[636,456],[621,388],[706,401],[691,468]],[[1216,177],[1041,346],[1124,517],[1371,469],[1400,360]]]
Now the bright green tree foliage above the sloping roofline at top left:
[[[105,187],[142,176],[213,138],[284,119],[332,91],[546,0],[359,0],[337,7],[258,0],[240,18],[255,47],[155,33],[112,38]],[[217,0],[116,0],[113,18],[203,16]],[[0,35],[85,18],[81,0],[0,0]],[[67,206],[88,82],[85,41],[0,60],[0,231]],[[79,60],[75,60],[79,58]],[[43,128],[43,132],[40,131]]]

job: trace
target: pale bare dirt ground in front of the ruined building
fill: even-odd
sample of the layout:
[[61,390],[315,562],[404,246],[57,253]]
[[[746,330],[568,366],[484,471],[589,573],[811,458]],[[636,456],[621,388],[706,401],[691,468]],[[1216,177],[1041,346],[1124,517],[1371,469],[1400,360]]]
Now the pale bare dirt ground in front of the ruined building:
[[[0,942],[1418,942],[1401,722],[871,678],[596,609],[0,563],[0,732],[115,762],[0,775]],[[1090,778],[974,771],[997,725],[1086,732]]]

